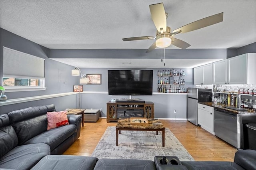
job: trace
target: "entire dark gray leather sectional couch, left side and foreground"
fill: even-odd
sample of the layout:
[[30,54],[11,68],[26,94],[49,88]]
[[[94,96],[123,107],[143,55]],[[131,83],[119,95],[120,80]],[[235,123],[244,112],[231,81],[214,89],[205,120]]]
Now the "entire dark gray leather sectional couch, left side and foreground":
[[47,129],[54,105],[30,107],[0,115],[0,170],[256,170],[256,150],[239,150],[234,162],[180,161],[166,156],[155,160],[100,159],[61,155],[79,138],[81,115],[68,115],[70,125]]

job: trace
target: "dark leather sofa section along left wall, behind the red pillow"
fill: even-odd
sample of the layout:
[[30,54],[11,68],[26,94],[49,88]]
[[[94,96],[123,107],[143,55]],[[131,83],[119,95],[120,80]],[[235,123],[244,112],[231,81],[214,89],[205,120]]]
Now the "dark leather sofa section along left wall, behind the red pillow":
[[55,106],[0,115],[0,168],[30,169],[46,155],[64,153],[79,138],[81,115],[68,115],[70,125],[47,130],[48,111]]

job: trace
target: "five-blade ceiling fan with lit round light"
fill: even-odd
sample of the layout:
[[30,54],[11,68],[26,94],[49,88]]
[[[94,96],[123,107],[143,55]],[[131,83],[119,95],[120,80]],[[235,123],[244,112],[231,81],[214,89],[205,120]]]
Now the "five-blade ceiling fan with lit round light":
[[186,49],[190,46],[190,44],[174,38],[175,35],[180,33],[186,33],[194,30],[198,30],[200,28],[204,28],[207,26],[211,26],[213,24],[217,24],[223,21],[223,12],[219,14],[215,14],[212,16],[208,16],[201,20],[197,20],[185,26],[182,26],[176,30],[171,30],[170,27],[166,26],[166,18],[168,17],[168,13],[164,10],[164,4],[152,4],[149,6],[151,18],[156,26],[156,36],[143,36],[143,37],[132,37],[132,38],[123,38],[123,41],[134,41],[134,40],[156,40],[146,51],[151,52],[156,47],[158,48],[166,48],[168,46],[175,45],[176,47]]

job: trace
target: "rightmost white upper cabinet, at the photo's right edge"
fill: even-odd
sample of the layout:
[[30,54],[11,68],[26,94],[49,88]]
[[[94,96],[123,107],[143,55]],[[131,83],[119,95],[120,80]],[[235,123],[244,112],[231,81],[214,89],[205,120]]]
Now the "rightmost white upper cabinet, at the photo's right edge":
[[256,84],[256,53],[227,59],[228,84]]

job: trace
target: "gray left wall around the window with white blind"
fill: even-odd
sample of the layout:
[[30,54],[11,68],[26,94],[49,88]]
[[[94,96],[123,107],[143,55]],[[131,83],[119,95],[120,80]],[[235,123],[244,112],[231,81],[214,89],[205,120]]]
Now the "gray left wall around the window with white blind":
[[[48,48],[26,40],[25,38],[17,36],[2,28],[0,28],[0,42],[0,85],[2,85],[3,79],[3,46],[45,59],[45,87],[47,89],[45,91],[6,92],[5,94],[7,95],[8,99],[50,95],[73,91],[73,85],[77,78],[71,75],[71,70],[74,67],[53,61],[52,59],[48,59]],[[56,109],[60,110],[67,107],[76,107],[76,95],[0,106],[0,114],[8,113],[16,109],[32,107],[35,105],[46,105],[51,103],[54,103]]]

